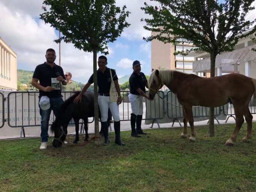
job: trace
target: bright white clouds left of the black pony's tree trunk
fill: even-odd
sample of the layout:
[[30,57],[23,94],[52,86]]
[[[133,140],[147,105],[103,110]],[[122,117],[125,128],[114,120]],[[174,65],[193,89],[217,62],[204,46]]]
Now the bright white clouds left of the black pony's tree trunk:
[[[29,3],[34,1],[26,2],[28,7],[35,9]],[[42,3],[37,7],[41,10]],[[12,4],[6,7],[0,2],[1,38],[17,53],[18,69],[35,70],[37,65],[45,62],[45,51],[48,48],[56,51],[55,63],[59,63],[59,45],[53,41],[58,38],[54,28],[45,25],[42,20],[36,22],[32,15],[22,12],[18,6]],[[111,48],[109,52],[114,53]],[[74,48],[72,43],[61,43],[61,66],[64,72],[70,71],[73,74],[73,80],[87,81],[93,73],[93,54]]]

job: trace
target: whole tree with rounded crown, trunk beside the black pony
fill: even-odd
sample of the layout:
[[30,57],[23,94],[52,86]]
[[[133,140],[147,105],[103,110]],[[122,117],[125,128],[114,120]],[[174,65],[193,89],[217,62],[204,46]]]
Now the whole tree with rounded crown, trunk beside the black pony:
[[[120,36],[129,12],[126,6],[115,6],[115,0],[44,0],[44,13],[40,19],[50,23],[62,32],[62,37],[55,40],[60,43],[71,42],[79,50],[93,53],[94,92],[98,92],[97,53],[108,54],[108,43]],[[98,98],[94,98],[95,117],[98,117]],[[99,121],[95,118],[95,144],[99,145]]]

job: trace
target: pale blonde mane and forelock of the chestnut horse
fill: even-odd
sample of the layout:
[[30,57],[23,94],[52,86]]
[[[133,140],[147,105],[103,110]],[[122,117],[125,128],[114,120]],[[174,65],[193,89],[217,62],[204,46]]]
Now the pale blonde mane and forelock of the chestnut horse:
[[[170,84],[172,79],[173,79],[173,70],[158,70],[159,71],[159,76],[163,80],[163,83],[165,84]],[[158,78],[156,77],[156,70],[154,70],[149,78],[148,78],[148,84],[151,85],[153,81],[156,81],[158,84]]]

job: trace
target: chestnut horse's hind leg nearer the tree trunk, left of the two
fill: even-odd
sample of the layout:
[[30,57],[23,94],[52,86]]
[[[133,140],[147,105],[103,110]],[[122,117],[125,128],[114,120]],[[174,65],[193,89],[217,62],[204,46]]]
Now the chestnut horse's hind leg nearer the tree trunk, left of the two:
[[235,116],[236,116],[236,127],[235,127],[232,135],[228,139],[228,141],[226,141],[226,144],[225,144],[226,146],[233,146],[234,145],[234,142],[236,142],[236,137],[238,136],[240,128],[241,128],[242,124],[244,123],[244,117],[243,117],[243,108],[244,108],[244,106],[241,106],[241,105],[238,106],[234,103],[233,103],[233,106],[234,106],[234,113],[235,113]]

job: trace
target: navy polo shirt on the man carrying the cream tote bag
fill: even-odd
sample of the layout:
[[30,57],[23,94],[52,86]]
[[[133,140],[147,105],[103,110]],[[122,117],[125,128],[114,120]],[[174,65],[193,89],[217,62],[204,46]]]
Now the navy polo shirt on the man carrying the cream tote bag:
[[[118,80],[116,76],[116,71],[111,69],[113,81]],[[106,67],[104,73],[97,70],[97,80],[98,80],[98,93],[109,94],[110,92],[110,85],[111,85],[111,76],[110,76],[110,68]],[[93,74],[91,75],[88,83],[93,84]]]

